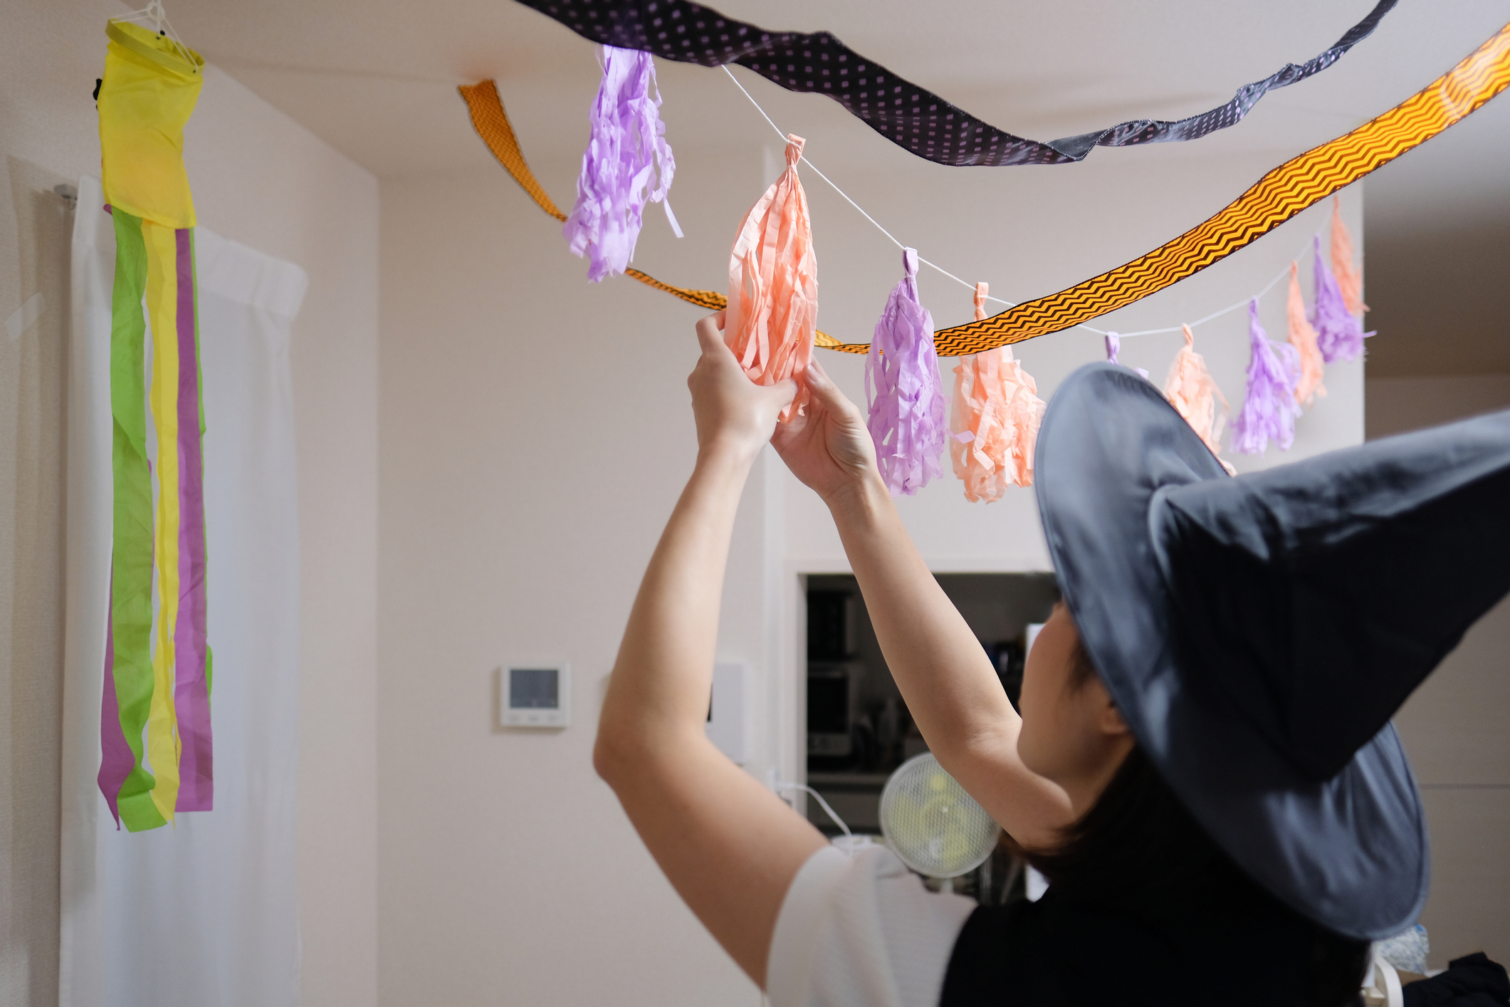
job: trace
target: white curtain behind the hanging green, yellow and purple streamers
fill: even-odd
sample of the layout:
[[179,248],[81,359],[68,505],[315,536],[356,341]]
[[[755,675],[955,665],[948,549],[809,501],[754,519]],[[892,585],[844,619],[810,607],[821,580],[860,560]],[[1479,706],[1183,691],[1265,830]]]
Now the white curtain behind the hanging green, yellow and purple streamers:
[[[110,572],[110,288],[79,186],[68,420],[62,1007],[299,1001],[299,527],[288,328],[302,269],[196,231],[214,809],[116,830],[95,784]],[[145,367],[145,361],[143,361]]]

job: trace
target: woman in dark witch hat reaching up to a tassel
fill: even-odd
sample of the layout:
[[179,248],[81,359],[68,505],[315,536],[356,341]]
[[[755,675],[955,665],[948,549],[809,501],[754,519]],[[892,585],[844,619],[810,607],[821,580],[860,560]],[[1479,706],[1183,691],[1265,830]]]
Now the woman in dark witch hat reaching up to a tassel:
[[[1019,719],[859,411],[814,364],[806,415],[778,427],[794,385],[750,383],[720,323],[698,325],[698,463],[595,765],[775,1007],[1356,999],[1367,941],[1425,895],[1388,717],[1510,587],[1510,414],[1228,479],[1152,385],[1077,371],[1037,442],[1065,602]],[[707,741],[723,566],[767,439],[829,506],[929,747],[1049,876],[1037,903],[929,894],[886,850],[850,861]]]

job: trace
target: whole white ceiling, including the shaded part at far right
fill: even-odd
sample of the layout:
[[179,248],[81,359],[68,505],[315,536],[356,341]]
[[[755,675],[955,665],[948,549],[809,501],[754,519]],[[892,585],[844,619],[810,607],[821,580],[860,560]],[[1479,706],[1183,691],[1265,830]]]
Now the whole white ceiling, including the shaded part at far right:
[[[1323,51],[1373,5],[714,3],[763,27],[827,29],[994,125],[1039,140],[1122,119],[1203,112],[1231,98],[1240,85]],[[190,45],[379,177],[497,171],[456,95],[456,85],[483,77],[497,79],[547,187],[569,187],[575,175],[599,79],[593,47],[513,0],[168,0],[168,6]],[[1203,159],[1262,151],[1277,165],[1416,92],[1505,21],[1510,0],[1401,0],[1374,35],[1336,65],[1270,94],[1238,125],[1188,143],[1096,149],[1090,159],[1146,159],[1199,171]],[[722,71],[657,66],[667,136],[678,151],[772,145],[769,127]],[[809,157],[826,171],[850,178],[915,171],[906,165],[911,154],[837,103],[785,92],[743,69],[734,72],[784,128],[808,137]],[[1371,373],[1421,367],[1434,368],[1431,373],[1510,371],[1510,331],[1496,297],[1510,282],[1507,163],[1510,97],[1501,97],[1367,181],[1371,276],[1398,278],[1392,290],[1370,285],[1371,320],[1382,326],[1394,322],[1392,331],[1401,335],[1371,356]],[[959,169],[936,171],[947,177]],[[975,171],[1012,172],[1016,184],[1048,181],[1033,172],[1077,169]],[[1472,233],[1466,245],[1456,240],[1457,229]],[[1433,255],[1427,269],[1416,254],[1424,248]],[[1462,251],[1454,257],[1454,249]],[[1466,320],[1459,326],[1466,334],[1445,356],[1431,322],[1445,317],[1444,311]]]

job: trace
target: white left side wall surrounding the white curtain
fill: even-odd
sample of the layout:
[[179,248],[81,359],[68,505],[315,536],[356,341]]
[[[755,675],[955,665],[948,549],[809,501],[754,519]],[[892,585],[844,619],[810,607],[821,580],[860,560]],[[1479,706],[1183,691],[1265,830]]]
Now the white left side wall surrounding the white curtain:
[[[0,33],[0,1004],[57,1002],[63,316],[71,223],[51,186],[98,175],[100,0],[18,0]],[[189,39],[192,44],[193,39]],[[376,1001],[378,183],[210,68],[187,130],[199,219],[300,264],[293,335],[302,534],[304,1002]],[[24,587],[24,590],[17,590]],[[211,599],[213,604],[213,599]],[[20,758],[17,758],[20,756]],[[213,814],[213,812],[210,812]],[[122,841],[128,838],[122,833]]]

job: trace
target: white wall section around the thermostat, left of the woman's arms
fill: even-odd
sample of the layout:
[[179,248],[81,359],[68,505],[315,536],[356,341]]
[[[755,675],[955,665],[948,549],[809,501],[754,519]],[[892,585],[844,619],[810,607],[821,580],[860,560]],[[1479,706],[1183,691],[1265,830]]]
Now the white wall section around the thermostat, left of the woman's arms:
[[[382,184],[382,1002],[755,1007],[590,761],[692,471],[696,316],[639,284],[587,287],[500,174]],[[683,193],[678,214],[699,202]],[[758,562],[744,550],[731,596],[760,604]],[[735,622],[757,646],[758,624]],[[572,663],[569,729],[498,728],[495,672],[528,655]]]

